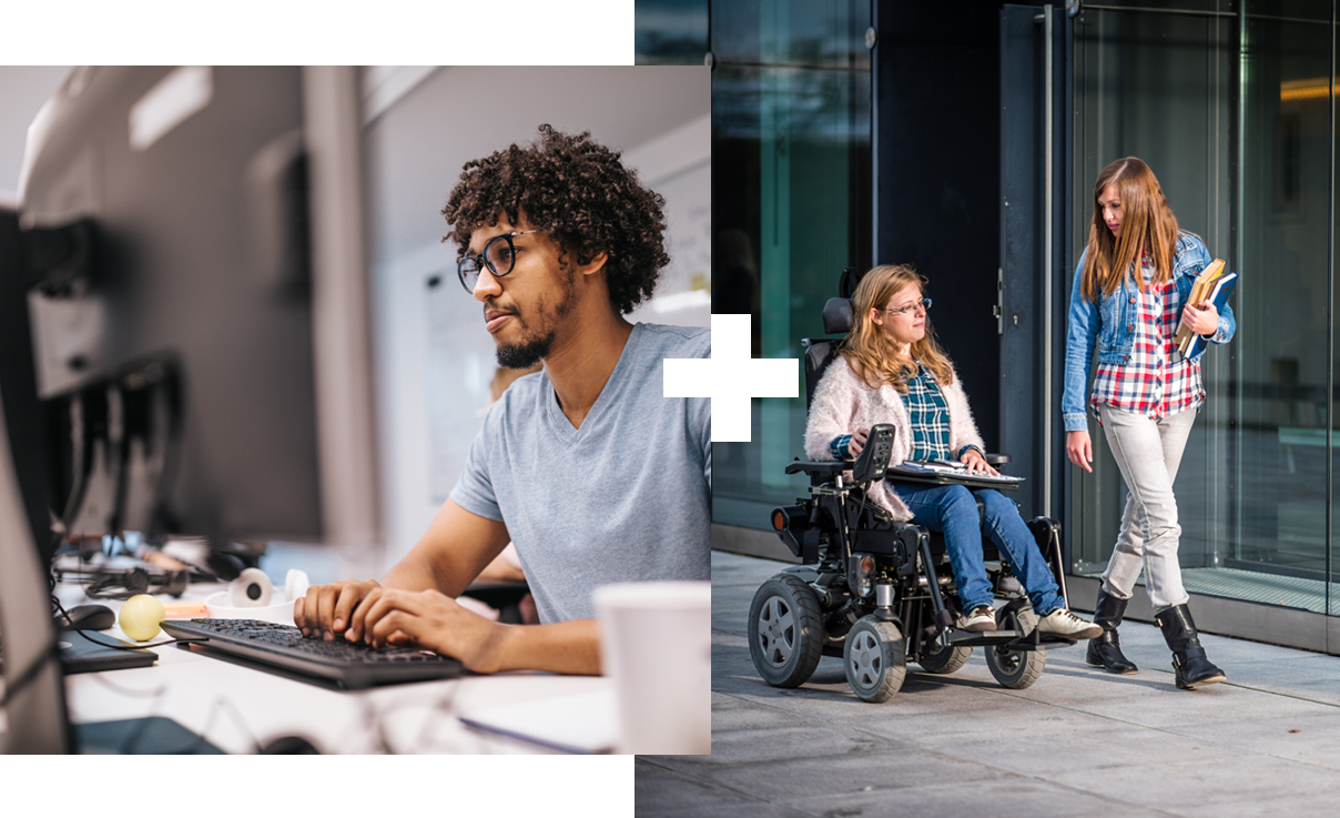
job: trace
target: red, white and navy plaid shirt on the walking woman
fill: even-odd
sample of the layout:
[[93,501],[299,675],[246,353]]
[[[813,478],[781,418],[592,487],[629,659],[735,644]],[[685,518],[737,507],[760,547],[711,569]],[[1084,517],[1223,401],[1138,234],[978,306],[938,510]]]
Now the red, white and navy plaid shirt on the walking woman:
[[1099,363],[1089,404],[1138,412],[1159,420],[1175,412],[1198,409],[1205,402],[1201,362],[1178,351],[1177,335],[1182,295],[1171,280],[1154,284],[1148,259],[1142,259],[1144,290],[1136,310],[1135,345],[1124,363]]

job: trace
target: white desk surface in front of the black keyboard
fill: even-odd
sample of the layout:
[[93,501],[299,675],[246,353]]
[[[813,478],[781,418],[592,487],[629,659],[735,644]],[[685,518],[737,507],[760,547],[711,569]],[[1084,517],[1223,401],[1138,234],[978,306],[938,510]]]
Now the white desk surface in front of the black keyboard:
[[[204,599],[220,587],[193,585],[182,599]],[[59,586],[56,593],[67,609],[88,602],[76,586]],[[117,599],[92,602],[121,607]],[[131,641],[119,625],[102,633]],[[163,638],[166,634],[159,634],[154,641]],[[155,652],[159,658],[150,668],[67,676],[71,721],[166,716],[220,750],[241,754],[287,735],[300,735],[322,752],[537,754],[552,751],[468,728],[457,716],[545,699],[563,708],[568,704],[564,697],[612,687],[599,676],[509,672],[338,692],[177,645]]]

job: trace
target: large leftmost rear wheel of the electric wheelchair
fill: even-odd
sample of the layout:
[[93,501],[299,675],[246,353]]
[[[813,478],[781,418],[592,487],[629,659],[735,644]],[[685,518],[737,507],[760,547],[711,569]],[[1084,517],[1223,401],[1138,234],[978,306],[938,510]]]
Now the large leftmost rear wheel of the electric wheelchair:
[[775,688],[805,684],[824,649],[819,595],[804,579],[777,574],[754,591],[749,605],[749,656]]

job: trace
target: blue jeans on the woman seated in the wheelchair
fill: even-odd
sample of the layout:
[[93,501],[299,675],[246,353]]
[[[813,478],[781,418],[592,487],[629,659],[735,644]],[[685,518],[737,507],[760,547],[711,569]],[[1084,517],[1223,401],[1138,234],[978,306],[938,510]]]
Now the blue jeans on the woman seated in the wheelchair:
[[986,579],[982,555],[982,528],[977,512],[981,498],[986,516],[986,534],[1000,548],[1001,558],[1024,583],[1033,610],[1045,617],[1065,606],[1061,589],[1052,577],[1047,558],[1028,530],[1018,506],[994,488],[969,489],[966,485],[929,485],[923,483],[895,483],[894,491],[913,512],[913,522],[945,535],[949,562],[954,566],[958,598],[963,613],[978,605],[990,605],[996,598]]

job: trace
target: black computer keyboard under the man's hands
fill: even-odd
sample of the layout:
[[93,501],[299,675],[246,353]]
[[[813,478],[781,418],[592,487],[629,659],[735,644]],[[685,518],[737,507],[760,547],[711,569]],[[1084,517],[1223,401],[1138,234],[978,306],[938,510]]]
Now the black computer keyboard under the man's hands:
[[411,648],[370,648],[343,636],[327,642],[307,638],[292,625],[259,620],[168,620],[163,630],[176,638],[205,638],[206,653],[218,650],[308,681],[322,680],[347,689],[383,684],[450,679],[461,662]]

